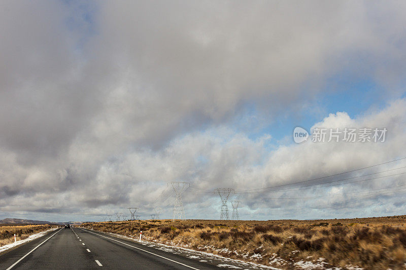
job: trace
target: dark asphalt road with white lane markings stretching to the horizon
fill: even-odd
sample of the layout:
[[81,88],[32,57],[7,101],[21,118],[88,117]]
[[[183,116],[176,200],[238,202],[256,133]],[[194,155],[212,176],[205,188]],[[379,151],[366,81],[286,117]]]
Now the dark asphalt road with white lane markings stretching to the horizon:
[[0,269],[219,269],[81,228],[58,229],[0,254]]

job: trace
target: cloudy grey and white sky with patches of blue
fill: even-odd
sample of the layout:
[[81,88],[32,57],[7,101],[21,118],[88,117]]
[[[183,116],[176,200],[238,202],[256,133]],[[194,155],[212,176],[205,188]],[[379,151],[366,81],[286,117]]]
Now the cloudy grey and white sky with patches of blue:
[[[2,1],[0,219],[171,218],[173,181],[190,183],[186,218],[219,219],[218,187],[241,219],[404,214],[405,13],[402,1]],[[296,143],[295,127],[309,138]],[[315,142],[320,128],[387,132]]]

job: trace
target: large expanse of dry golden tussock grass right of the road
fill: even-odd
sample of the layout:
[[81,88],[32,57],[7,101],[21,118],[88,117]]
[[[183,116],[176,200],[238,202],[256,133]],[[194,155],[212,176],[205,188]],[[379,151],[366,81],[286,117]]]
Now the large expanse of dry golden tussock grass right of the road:
[[406,216],[333,220],[139,220],[85,223],[103,232],[222,256],[295,268],[300,260],[325,267],[404,269]]

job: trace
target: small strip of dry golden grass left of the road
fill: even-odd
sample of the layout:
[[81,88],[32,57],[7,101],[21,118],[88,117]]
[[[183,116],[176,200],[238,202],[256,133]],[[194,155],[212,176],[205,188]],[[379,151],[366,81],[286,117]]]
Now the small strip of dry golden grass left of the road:
[[43,232],[50,229],[51,225],[48,224],[36,224],[36,225],[10,225],[0,224],[0,247],[13,243],[14,234],[17,241],[24,240],[32,234]]

